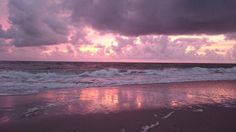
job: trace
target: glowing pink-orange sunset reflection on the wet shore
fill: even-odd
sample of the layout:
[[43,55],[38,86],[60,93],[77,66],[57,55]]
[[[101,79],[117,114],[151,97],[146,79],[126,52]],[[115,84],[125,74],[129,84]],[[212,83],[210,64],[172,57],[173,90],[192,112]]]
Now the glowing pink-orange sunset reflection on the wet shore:
[[[51,95],[52,94],[52,95]],[[43,94],[44,95],[44,94]],[[43,96],[42,95],[42,96]],[[49,91],[51,102],[64,105],[65,113],[107,113],[125,110],[173,108],[197,104],[221,104],[236,99],[232,83],[135,85],[108,88]]]

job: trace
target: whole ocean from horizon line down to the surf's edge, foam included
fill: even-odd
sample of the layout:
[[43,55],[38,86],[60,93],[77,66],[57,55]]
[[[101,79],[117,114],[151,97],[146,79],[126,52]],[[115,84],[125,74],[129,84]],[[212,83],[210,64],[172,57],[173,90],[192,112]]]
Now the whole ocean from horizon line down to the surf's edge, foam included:
[[236,80],[236,64],[0,62],[0,95],[213,80]]

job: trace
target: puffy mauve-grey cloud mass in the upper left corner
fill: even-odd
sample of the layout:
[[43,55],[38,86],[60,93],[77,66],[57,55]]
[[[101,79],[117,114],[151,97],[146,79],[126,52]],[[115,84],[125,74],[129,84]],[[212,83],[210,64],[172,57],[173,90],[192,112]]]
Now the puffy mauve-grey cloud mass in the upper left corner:
[[15,46],[51,45],[67,42],[66,19],[61,8],[47,0],[9,0],[11,27],[0,37],[12,39]]

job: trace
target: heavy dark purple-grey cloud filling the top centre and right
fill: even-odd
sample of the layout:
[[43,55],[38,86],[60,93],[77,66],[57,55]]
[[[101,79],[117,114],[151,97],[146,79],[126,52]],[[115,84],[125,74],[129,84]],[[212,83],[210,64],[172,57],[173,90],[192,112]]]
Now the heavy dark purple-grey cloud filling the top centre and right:
[[236,31],[235,0],[69,0],[74,21],[125,35]]

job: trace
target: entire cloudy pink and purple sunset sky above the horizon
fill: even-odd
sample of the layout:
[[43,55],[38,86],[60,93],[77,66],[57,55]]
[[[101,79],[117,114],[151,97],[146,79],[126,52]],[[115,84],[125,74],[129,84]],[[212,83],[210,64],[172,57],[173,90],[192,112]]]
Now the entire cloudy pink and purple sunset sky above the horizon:
[[236,63],[235,0],[0,0],[0,60]]

